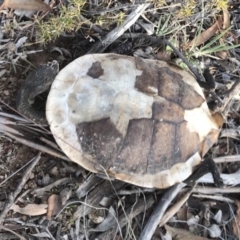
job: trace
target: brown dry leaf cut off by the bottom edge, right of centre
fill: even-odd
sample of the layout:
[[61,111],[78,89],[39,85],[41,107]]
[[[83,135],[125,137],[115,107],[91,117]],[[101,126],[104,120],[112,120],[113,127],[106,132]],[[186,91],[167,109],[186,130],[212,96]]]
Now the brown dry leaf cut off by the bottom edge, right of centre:
[[180,228],[173,228],[170,227],[168,225],[164,225],[164,227],[166,228],[167,232],[172,235],[172,238],[174,239],[181,239],[181,240],[208,240],[209,238],[204,238],[204,237],[200,237],[197,235],[194,235],[192,233],[190,233],[189,231],[186,231],[184,229],[180,229]]

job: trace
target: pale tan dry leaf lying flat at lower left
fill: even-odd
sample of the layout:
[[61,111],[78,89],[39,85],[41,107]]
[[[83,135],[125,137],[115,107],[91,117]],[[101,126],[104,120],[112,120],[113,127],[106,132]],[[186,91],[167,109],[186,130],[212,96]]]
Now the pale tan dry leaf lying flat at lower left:
[[18,212],[28,216],[38,216],[47,212],[47,204],[28,204],[27,206],[20,208],[18,205],[13,204],[10,208],[14,212]]

